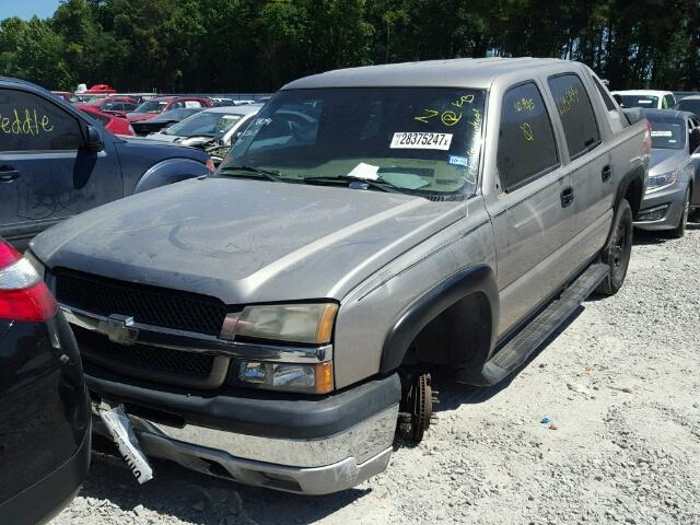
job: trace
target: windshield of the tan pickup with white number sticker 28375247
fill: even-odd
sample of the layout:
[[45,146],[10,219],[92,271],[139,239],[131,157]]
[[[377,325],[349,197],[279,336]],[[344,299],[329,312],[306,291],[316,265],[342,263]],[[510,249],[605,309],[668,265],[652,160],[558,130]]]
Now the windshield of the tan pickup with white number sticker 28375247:
[[282,91],[218,174],[247,166],[288,182],[364,178],[411,192],[472,195],[485,98],[482,90],[452,88]]

